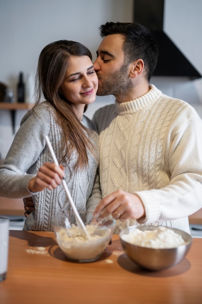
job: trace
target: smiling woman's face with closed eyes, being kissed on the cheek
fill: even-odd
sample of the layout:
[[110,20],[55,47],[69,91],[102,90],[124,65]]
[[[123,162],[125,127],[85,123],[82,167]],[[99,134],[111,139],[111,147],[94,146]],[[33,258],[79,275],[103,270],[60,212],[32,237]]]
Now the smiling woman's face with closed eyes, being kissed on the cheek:
[[62,94],[75,108],[83,109],[96,99],[98,77],[88,56],[70,56]]

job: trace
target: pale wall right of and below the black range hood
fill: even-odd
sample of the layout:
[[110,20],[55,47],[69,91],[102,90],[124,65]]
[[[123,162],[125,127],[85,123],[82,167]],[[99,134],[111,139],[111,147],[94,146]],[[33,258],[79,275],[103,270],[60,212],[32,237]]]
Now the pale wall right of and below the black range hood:
[[[164,0],[164,31],[202,75],[202,0]],[[177,68],[177,67],[173,67]],[[152,83],[193,105],[202,117],[202,78],[153,77]]]

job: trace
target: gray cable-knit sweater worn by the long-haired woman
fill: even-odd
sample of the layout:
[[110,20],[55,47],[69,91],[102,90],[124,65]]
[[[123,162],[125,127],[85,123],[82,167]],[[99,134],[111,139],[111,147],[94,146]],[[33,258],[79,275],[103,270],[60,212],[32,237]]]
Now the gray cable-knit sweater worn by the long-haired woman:
[[[45,135],[50,138],[58,162],[62,160],[61,133],[53,115],[54,109],[49,102],[45,102],[38,104],[34,112],[35,114],[33,110],[28,111],[22,119],[4,163],[0,166],[0,196],[24,198],[33,194],[27,187],[28,181],[45,162],[53,162],[46,146]],[[97,175],[98,135],[90,119],[83,116],[82,123],[93,130],[94,155],[88,151],[88,168],[75,172],[73,165],[76,156],[72,154],[70,165],[65,169],[65,179],[78,211],[85,211],[86,208],[94,210],[101,200]],[[69,205],[63,186],[34,193],[33,200],[35,211],[26,218],[24,229],[52,231],[52,217],[59,211],[66,210]]]

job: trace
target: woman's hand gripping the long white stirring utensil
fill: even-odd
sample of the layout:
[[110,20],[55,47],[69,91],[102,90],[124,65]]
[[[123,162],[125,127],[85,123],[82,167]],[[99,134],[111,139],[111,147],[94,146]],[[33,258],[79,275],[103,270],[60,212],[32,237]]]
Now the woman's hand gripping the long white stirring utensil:
[[64,176],[64,166],[57,166],[53,163],[45,163],[39,168],[36,176],[28,182],[28,188],[31,192],[42,191],[45,188],[55,189],[61,184]]

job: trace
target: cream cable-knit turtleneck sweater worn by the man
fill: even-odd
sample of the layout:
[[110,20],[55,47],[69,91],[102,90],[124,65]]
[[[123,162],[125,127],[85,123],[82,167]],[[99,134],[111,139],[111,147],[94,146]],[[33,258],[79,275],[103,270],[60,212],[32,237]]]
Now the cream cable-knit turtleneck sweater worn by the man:
[[202,207],[202,120],[186,102],[154,85],[133,101],[94,115],[100,136],[102,197],[122,189],[140,197],[144,222],[189,232],[188,216]]

